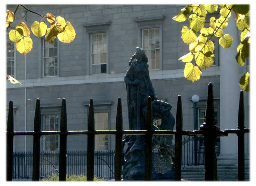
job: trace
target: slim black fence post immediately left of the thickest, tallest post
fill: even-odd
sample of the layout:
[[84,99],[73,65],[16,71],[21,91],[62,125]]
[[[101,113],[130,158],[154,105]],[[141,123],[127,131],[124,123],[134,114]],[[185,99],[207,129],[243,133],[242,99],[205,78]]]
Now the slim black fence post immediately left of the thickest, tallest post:
[[175,134],[175,160],[174,160],[174,180],[181,180],[181,158],[182,158],[182,102],[181,96],[178,96],[176,112],[176,131]]

